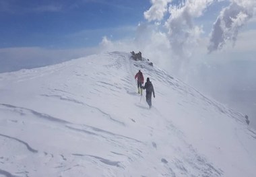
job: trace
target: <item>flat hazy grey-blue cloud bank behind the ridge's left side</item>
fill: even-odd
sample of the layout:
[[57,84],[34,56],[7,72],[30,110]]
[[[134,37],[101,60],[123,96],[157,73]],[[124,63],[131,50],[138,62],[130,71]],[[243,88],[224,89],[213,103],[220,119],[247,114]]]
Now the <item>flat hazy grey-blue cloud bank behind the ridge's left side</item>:
[[54,65],[100,52],[99,48],[51,50],[39,47],[0,48],[0,73]]

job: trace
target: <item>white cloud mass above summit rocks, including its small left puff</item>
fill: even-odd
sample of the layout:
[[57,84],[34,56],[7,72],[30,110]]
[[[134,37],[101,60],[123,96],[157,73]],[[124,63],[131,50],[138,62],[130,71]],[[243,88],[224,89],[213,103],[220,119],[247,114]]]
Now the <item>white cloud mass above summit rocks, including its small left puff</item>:
[[189,57],[191,55],[189,48],[195,46],[203,31],[201,26],[193,24],[193,19],[203,15],[203,11],[213,1],[181,1],[177,4],[172,1],[152,0],[152,7],[144,12],[144,17],[149,22],[153,20],[160,22],[164,20],[164,13],[168,9],[169,17],[164,22],[164,27],[168,30],[172,50],[179,57]]

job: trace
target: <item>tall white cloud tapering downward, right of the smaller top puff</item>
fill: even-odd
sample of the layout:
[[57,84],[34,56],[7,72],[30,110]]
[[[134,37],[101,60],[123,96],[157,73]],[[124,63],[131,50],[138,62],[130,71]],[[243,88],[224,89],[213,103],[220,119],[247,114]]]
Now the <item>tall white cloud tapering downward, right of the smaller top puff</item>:
[[181,57],[189,57],[190,50],[197,44],[203,32],[202,26],[195,26],[193,19],[200,17],[213,0],[186,1],[179,6],[170,5],[170,17],[165,22],[174,52]]

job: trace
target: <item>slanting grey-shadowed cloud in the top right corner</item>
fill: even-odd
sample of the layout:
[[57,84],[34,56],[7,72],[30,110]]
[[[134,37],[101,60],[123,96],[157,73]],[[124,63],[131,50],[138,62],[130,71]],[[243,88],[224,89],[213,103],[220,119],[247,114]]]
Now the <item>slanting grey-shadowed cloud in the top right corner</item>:
[[255,6],[255,0],[234,0],[222,9],[212,30],[208,52],[221,49],[228,40],[234,45],[238,30],[253,17]]

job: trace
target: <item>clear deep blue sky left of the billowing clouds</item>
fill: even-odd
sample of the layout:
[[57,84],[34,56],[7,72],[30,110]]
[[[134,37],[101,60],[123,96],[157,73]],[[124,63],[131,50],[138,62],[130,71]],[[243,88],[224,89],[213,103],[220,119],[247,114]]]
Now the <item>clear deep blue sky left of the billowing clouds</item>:
[[0,48],[95,46],[102,36],[133,35],[150,1],[0,0]]

